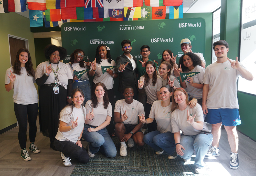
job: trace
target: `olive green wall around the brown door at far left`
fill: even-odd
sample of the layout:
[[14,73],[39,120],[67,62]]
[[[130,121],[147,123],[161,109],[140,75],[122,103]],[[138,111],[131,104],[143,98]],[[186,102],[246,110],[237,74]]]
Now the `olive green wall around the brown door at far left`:
[[[1,53],[1,64],[2,68],[0,70],[0,92],[3,101],[0,103],[0,130],[4,129],[12,124],[15,124],[16,117],[14,114],[14,104],[13,104],[13,90],[7,92],[4,87],[5,82],[5,71],[10,65],[10,54],[9,54],[9,44],[8,44],[8,34],[22,37],[28,39],[29,52],[34,64],[34,69],[36,68],[35,62],[35,47],[34,47],[34,35],[30,32],[29,19],[18,15],[16,13],[0,13],[0,53]],[[36,86],[37,87],[37,86]]]

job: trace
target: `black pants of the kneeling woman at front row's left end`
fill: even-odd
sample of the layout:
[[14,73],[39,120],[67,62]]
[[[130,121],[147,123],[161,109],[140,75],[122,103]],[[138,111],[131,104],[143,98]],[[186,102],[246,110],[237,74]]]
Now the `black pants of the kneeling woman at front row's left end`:
[[59,141],[55,139],[55,148],[65,153],[65,157],[67,158],[76,158],[81,163],[87,163],[89,161],[89,155],[86,151],[86,149],[82,146],[79,147],[78,145],[74,144],[70,141]]

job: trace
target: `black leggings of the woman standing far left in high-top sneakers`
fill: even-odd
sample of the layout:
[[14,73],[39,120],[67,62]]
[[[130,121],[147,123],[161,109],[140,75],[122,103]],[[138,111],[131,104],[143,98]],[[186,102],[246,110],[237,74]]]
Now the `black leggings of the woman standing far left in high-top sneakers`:
[[14,103],[14,113],[19,124],[19,145],[20,148],[26,148],[27,128],[29,124],[29,141],[35,142],[36,139],[36,117],[38,103],[22,105]]

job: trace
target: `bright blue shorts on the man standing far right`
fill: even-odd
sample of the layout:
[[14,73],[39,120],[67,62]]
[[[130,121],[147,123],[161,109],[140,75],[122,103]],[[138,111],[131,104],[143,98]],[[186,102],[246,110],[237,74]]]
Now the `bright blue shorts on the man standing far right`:
[[222,123],[225,126],[240,125],[239,109],[208,109],[205,122],[209,124]]

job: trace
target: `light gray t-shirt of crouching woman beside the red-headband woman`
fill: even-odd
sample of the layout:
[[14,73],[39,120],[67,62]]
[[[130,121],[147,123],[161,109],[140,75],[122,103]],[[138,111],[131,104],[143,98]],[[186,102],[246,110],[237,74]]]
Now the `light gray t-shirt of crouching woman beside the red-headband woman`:
[[155,118],[157,123],[157,130],[161,133],[172,132],[171,126],[171,108],[172,102],[170,102],[169,106],[163,107],[161,105],[162,100],[157,100],[152,104],[151,111],[149,114],[149,118]]

